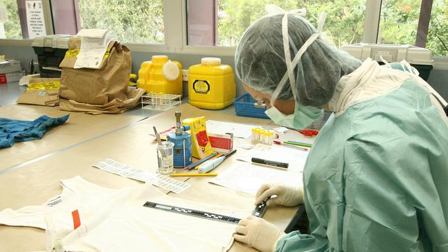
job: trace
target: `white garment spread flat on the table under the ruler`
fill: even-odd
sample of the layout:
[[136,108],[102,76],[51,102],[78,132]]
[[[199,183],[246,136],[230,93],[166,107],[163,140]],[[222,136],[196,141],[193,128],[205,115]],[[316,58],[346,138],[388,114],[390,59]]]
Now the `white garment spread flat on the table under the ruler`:
[[[67,189],[67,185],[70,185],[71,190]],[[67,214],[50,211],[56,230],[64,227],[64,235],[59,232],[57,238],[62,238],[64,249],[69,251],[223,251],[223,248],[227,248],[232,242],[236,224],[151,209],[143,207],[143,204],[152,201],[236,218],[243,218],[252,211],[250,209],[252,205],[248,205],[246,210],[234,210],[181,200],[166,196],[149,184],[112,190],[98,187],[77,177],[63,180],[63,188],[64,191],[70,191],[72,193],[70,195],[77,196],[79,202],[89,202],[83,198],[91,201],[99,198],[92,195],[96,191],[101,191],[100,189],[103,189],[105,194],[109,192],[108,196],[112,199],[91,204],[92,208],[82,208],[81,227],[74,231],[71,209]],[[110,197],[111,191],[116,192],[114,197]],[[63,192],[61,195],[68,198],[68,193]],[[84,197],[80,197],[81,195]],[[64,200],[54,207],[59,205],[61,211],[66,211],[63,202]],[[19,211],[7,209],[8,215],[3,213],[5,211],[0,213],[0,223],[45,228],[43,213],[48,212],[48,208],[54,207],[28,207],[27,211],[23,211],[26,208]],[[83,216],[82,213],[89,214]],[[12,217],[12,220],[8,220],[8,216]],[[67,220],[64,220],[63,226],[58,223],[61,217],[55,218],[56,216],[65,216]],[[68,227],[71,228],[70,233],[67,232],[70,229]]]

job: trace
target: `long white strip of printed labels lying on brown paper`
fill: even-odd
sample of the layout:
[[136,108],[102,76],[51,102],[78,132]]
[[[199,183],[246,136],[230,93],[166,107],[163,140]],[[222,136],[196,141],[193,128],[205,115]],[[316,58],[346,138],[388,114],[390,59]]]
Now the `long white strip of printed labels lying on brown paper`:
[[138,169],[129,165],[123,165],[109,158],[100,161],[93,166],[102,169],[103,171],[108,171],[112,174],[116,174],[126,178],[149,182],[152,185],[156,185],[157,187],[173,191],[174,193],[181,193],[182,191],[190,187],[190,184],[186,182],[181,182],[179,180],[175,180],[174,178],[163,176],[161,174],[154,174],[150,171]]

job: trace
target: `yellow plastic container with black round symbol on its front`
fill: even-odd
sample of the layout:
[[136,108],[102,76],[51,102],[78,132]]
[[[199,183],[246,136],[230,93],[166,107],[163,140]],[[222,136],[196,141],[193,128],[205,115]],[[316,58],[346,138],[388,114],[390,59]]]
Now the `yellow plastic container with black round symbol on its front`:
[[223,109],[235,99],[234,72],[219,58],[202,58],[188,69],[188,99],[201,109]]

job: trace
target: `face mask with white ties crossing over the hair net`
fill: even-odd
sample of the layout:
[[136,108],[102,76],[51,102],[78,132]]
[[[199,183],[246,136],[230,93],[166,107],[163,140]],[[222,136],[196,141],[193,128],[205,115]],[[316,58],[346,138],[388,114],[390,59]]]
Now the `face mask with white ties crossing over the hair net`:
[[267,116],[269,116],[269,118],[271,118],[274,121],[274,123],[278,125],[293,127],[296,129],[303,129],[308,125],[310,125],[311,123],[313,123],[315,120],[317,120],[323,114],[322,108],[302,106],[296,103],[294,114],[285,115],[282,112],[278,111],[276,107],[274,107],[274,102],[278,97],[278,94],[280,94],[281,90],[283,89],[283,86],[285,85],[288,78],[289,78],[289,85],[291,86],[292,94],[294,96],[294,100],[297,101],[298,94],[296,94],[297,85],[296,80],[294,78],[294,68],[296,67],[298,61],[301,59],[301,56],[307,50],[309,45],[311,45],[314,41],[316,41],[318,36],[320,36],[320,33],[323,28],[323,23],[325,22],[327,14],[325,13],[320,14],[320,20],[318,23],[318,32],[316,34],[312,34],[312,36],[309,37],[309,39],[303,44],[302,48],[298,50],[296,56],[294,56],[293,61],[291,61],[291,53],[289,52],[289,35],[288,35],[288,20],[287,20],[288,14],[289,12],[285,12],[282,19],[283,48],[285,51],[287,72],[281,79],[280,83],[278,83],[278,86],[274,91],[274,94],[272,94],[271,97],[272,107],[267,109],[265,114],[267,114]]

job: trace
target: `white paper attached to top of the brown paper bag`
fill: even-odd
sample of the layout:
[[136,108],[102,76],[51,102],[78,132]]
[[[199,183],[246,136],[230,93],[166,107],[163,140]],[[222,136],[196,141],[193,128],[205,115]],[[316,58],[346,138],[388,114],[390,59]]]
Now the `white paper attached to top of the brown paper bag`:
[[92,29],[81,30],[78,33],[88,36],[82,36],[81,48],[77,56],[77,62],[74,63],[74,68],[99,68],[108,49],[108,43],[106,43],[107,32],[108,30]]

